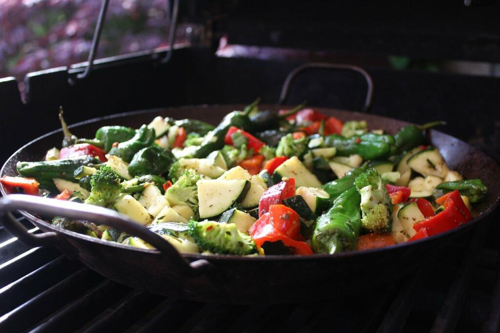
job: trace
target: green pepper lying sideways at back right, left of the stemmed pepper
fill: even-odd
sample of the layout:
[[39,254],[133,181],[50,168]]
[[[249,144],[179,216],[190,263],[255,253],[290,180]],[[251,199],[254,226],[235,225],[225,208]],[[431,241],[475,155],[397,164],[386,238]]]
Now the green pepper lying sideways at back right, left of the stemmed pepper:
[[394,142],[394,137],[388,134],[364,133],[351,137],[331,134],[324,137],[324,144],[327,147],[335,147],[338,156],[358,154],[365,160],[389,155]]

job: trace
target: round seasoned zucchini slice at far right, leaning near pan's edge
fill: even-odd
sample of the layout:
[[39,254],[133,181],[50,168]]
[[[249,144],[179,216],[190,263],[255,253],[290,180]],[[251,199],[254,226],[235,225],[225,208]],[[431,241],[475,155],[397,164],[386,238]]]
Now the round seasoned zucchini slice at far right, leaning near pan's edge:
[[408,166],[423,176],[429,174],[444,178],[449,168],[437,148],[428,148],[408,158]]

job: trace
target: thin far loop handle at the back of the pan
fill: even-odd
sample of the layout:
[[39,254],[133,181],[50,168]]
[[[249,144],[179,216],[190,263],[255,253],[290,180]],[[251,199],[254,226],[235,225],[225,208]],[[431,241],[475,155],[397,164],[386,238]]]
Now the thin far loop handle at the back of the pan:
[[295,69],[290,71],[288,75],[286,75],[286,78],[283,82],[283,87],[281,88],[281,93],[279,94],[278,104],[283,104],[286,101],[288,92],[290,90],[290,85],[292,81],[298,76],[298,74],[302,71],[314,68],[351,70],[361,74],[366,81],[366,97],[364,98],[364,105],[361,111],[366,112],[369,110],[373,98],[373,79],[371,78],[370,74],[368,74],[368,72],[363,68],[343,63],[308,62],[296,67]]

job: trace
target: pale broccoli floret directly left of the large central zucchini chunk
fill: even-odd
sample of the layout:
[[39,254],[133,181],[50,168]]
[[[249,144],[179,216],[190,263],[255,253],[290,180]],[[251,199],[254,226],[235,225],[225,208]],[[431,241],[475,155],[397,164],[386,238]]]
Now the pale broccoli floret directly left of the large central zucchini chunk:
[[165,191],[165,197],[168,202],[174,206],[176,204],[187,204],[197,215],[198,214],[198,187],[196,181],[200,175],[192,169],[187,169],[184,174],[168,187]]

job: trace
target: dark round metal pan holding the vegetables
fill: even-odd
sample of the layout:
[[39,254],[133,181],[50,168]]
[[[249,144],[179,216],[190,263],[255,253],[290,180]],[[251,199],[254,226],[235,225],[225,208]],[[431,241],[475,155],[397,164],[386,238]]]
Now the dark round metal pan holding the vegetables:
[[[271,109],[277,107],[267,106]],[[103,125],[138,127],[154,116],[192,117],[217,123],[223,115],[242,105],[193,106],[129,112],[85,121],[71,126],[80,137],[93,135]],[[366,119],[370,128],[394,133],[404,121],[364,113],[318,109],[342,120]],[[54,115],[55,116],[55,115]],[[498,205],[500,167],[483,152],[444,133],[430,130],[428,143],[437,146],[451,169],[465,178],[481,178],[488,186],[486,198],[476,205],[477,216],[460,227],[426,239],[390,247],[344,252],[336,255],[241,257],[231,255],[178,254],[172,246],[145,228],[104,208],[58,200],[11,195],[0,199],[0,210],[26,209],[50,215],[79,217],[117,227],[153,244],[144,250],[52,226],[38,215],[20,212],[44,233],[28,234],[13,219],[4,225],[32,246],[53,244],[102,275],[147,291],[184,299],[224,303],[288,303],[331,299],[353,290],[368,290],[390,283],[414,270],[442,246],[483,222]],[[16,175],[20,160],[41,160],[45,151],[60,146],[60,130],[41,136],[17,150],[3,165],[0,176]],[[3,195],[8,194],[1,187]],[[47,215],[48,214],[48,215]],[[7,214],[9,216],[9,214]]]

